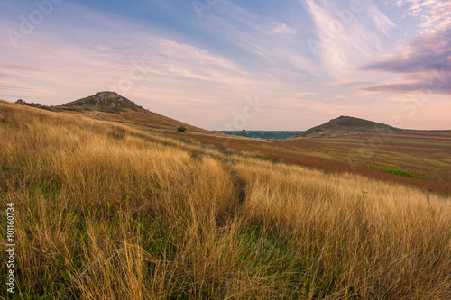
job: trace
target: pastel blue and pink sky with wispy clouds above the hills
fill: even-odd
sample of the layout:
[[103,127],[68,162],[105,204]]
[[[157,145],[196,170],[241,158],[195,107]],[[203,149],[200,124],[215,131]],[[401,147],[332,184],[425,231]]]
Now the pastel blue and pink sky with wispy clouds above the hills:
[[451,130],[451,1],[0,0],[0,99],[115,91],[208,130]]

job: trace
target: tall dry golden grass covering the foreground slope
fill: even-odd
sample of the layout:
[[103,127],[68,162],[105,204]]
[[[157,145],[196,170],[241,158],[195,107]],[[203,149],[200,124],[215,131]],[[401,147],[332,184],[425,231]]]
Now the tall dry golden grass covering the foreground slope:
[[5,103],[0,141],[18,299],[451,297],[444,196]]

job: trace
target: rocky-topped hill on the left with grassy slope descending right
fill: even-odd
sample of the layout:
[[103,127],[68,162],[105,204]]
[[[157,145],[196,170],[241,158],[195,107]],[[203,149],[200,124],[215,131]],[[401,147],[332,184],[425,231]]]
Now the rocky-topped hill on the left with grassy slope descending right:
[[54,106],[54,109],[57,112],[83,114],[96,120],[131,124],[145,130],[174,132],[179,126],[184,126],[188,132],[217,134],[161,114],[152,113],[114,92],[99,92],[96,95]]

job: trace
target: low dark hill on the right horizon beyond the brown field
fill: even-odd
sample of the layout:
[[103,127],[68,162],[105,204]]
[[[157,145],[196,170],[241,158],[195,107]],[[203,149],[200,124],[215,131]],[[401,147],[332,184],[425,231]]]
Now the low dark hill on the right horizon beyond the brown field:
[[340,116],[332,119],[327,123],[310,128],[308,131],[301,132],[292,137],[296,138],[336,138],[352,134],[362,133],[388,133],[402,132],[402,129],[391,127],[383,123],[376,123],[364,119],[354,118],[351,116]]

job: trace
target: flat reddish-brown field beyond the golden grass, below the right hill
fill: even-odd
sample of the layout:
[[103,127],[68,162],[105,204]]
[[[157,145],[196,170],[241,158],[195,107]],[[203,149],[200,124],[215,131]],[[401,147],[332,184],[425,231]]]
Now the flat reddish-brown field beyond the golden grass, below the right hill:
[[[383,135],[360,134],[346,139],[283,141],[167,134],[333,174],[353,173],[451,195],[451,132],[410,131]],[[410,173],[412,177],[398,176],[394,172],[383,171],[384,168]]]

